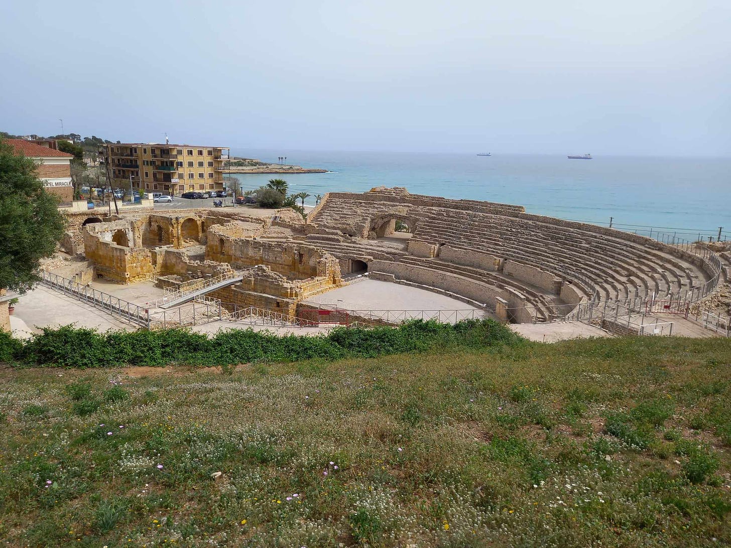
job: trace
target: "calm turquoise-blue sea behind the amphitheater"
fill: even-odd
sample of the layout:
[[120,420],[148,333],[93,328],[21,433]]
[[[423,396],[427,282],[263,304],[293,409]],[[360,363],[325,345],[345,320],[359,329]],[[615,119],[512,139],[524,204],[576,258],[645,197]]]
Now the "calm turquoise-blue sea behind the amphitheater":
[[529,213],[647,234],[708,235],[731,240],[731,158],[656,158],[477,153],[268,151],[231,149],[233,156],[314,167],[327,173],[241,174],[244,190],[284,178],[289,192],[365,192],[403,186],[412,194],[523,205]]

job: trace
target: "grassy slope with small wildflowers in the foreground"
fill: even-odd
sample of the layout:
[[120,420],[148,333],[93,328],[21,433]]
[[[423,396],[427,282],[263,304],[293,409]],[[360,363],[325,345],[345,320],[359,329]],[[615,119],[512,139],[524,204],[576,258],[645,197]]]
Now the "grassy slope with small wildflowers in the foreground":
[[729,340],[519,342],[224,369],[1,369],[0,538],[731,543]]

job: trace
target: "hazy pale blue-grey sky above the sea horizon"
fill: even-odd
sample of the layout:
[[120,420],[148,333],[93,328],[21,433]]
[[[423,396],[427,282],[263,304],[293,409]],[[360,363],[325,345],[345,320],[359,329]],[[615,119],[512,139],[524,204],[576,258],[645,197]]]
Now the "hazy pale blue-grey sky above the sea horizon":
[[730,0],[4,1],[0,129],[731,155]]

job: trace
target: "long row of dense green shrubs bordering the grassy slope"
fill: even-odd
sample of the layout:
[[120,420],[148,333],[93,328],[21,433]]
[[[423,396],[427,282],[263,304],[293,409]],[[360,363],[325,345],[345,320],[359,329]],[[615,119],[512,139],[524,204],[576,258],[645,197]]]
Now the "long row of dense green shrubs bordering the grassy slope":
[[510,329],[491,319],[453,325],[414,320],[399,327],[338,327],[318,336],[231,330],[220,331],[212,338],[181,329],[99,332],[65,326],[45,328],[24,342],[0,333],[0,361],[66,368],[233,365],[486,348],[519,340]]

